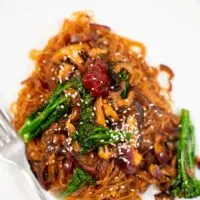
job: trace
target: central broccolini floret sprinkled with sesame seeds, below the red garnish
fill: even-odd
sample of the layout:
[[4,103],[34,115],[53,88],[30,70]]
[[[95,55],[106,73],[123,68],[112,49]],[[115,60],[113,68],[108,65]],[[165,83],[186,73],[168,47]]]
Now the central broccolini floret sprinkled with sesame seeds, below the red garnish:
[[124,140],[130,140],[130,137],[130,133],[114,131],[96,125],[93,114],[93,98],[90,94],[85,93],[83,95],[81,120],[73,136],[73,139],[77,140],[81,147],[81,153],[87,153],[91,149],[106,144],[116,144]]

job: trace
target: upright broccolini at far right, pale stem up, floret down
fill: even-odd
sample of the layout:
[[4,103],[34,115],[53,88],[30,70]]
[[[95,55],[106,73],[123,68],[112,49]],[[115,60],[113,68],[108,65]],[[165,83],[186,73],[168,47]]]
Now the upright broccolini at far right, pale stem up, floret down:
[[200,181],[194,176],[195,137],[188,110],[182,109],[180,126],[178,174],[172,183],[171,192],[180,198],[194,198],[200,196]]

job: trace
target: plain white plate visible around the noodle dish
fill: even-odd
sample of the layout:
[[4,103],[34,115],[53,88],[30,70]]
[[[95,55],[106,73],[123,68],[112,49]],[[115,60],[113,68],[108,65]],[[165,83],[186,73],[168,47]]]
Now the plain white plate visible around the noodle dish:
[[[200,131],[199,0],[0,0],[1,105],[8,107],[16,98],[20,81],[33,69],[29,50],[43,48],[63,19],[76,10],[91,10],[97,22],[142,41],[150,64],[169,65],[176,74],[175,108],[189,108]],[[198,135],[198,152],[199,141]],[[0,163],[0,199],[37,198],[15,169]],[[152,190],[144,199],[153,199]]]

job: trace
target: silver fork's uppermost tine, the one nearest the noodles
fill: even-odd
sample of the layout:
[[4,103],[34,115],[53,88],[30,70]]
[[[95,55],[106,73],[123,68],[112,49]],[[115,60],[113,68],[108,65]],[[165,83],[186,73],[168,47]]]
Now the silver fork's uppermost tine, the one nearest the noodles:
[[0,109],[0,124],[10,138],[14,139],[17,137],[16,131],[11,124],[11,118],[9,117],[8,113],[2,109]]

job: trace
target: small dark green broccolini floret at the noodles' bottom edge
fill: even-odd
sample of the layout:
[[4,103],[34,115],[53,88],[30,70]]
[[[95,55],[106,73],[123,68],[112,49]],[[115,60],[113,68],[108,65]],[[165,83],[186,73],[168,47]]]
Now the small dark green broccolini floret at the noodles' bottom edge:
[[61,197],[67,197],[79,188],[90,184],[95,184],[95,180],[82,169],[76,168],[68,184],[68,188],[60,195]]

